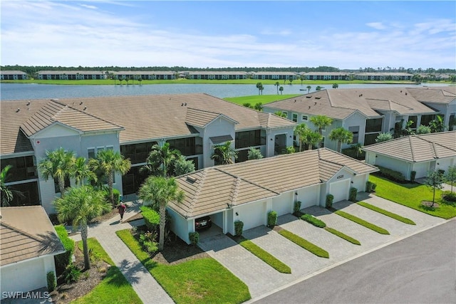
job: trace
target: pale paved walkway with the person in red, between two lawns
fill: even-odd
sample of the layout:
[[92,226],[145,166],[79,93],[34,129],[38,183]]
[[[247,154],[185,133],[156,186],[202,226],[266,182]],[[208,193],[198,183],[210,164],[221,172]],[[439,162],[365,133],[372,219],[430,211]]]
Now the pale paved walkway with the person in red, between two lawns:
[[[140,203],[138,201],[124,196],[125,203],[128,205],[127,212],[124,214],[124,221],[138,214]],[[155,278],[142,266],[142,263],[123,243],[122,240],[115,234],[115,231],[123,229],[131,229],[129,223],[120,223],[120,216],[115,216],[113,219],[104,221],[103,223],[90,226],[88,229],[88,237],[95,238],[100,242],[103,249],[108,253],[123,273],[123,276],[132,285],[135,292],[138,294],[142,303],[174,303],[170,296],[163,288],[155,281]],[[142,220],[138,220],[142,221]],[[138,223],[138,221],[135,221]],[[135,223],[132,222],[132,223]],[[81,234],[71,236],[75,241],[81,240]]]

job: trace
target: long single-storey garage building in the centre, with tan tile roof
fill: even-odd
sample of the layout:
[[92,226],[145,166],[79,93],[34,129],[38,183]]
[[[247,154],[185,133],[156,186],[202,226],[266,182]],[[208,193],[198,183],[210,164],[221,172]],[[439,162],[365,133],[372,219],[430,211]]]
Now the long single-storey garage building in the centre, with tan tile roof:
[[172,231],[190,243],[195,219],[210,216],[224,234],[234,235],[236,221],[244,230],[266,225],[269,211],[292,213],[296,201],[306,208],[325,206],[328,194],[334,202],[346,200],[351,187],[365,191],[376,171],[326,148],[201,169],[177,178],[185,199],[168,204]]

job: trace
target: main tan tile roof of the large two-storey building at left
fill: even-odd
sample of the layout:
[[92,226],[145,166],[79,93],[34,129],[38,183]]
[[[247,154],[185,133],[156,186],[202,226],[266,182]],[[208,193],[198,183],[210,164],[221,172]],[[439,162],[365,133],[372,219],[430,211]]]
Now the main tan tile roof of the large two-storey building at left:
[[[24,138],[19,135],[21,133],[19,127],[48,103],[49,100],[1,100],[1,154],[22,152],[26,149],[26,143],[23,142]],[[265,119],[266,113],[257,112],[203,93],[68,98],[60,99],[58,103],[69,105],[69,108],[73,109],[68,109],[68,112],[65,112],[66,114],[82,115],[85,113],[98,118],[98,122],[105,121],[124,127],[125,130],[120,132],[121,145],[128,142],[147,142],[158,138],[194,135],[195,128],[189,125],[187,121],[195,123],[195,125],[204,123],[204,121],[198,121],[201,118],[197,118],[197,110],[199,113],[207,111],[207,113],[226,115],[238,122],[235,125],[236,130],[252,130],[259,127],[293,127],[296,125],[295,122],[281,117]],[[182,106],[182,104],[187,104],[187,106]],[[20,109],[19,112],[16,112],[16,109]],[[194,115],[190,113],[187,117],[189,109],[192,109],[190,112],[193,111]],[[61,117],[65,117],[63,123],[69,122],[71,115],[62,115]],[[207,119],[210,118],[211,114],[208,115]],[[88,116],[82,117],[88,119]],[[81,120],[81,122],[72,120],[71,124],[81,129],[83,127],[89,129],[89,125],[84,125],[86,122],[87,120]],[[25,125],[24,128],[28,130]],[[33,132],[34,127],[30,127],[30,129],[28,132]],[[28,151],[31,151],[29,143],[28,147],[30,148]]]

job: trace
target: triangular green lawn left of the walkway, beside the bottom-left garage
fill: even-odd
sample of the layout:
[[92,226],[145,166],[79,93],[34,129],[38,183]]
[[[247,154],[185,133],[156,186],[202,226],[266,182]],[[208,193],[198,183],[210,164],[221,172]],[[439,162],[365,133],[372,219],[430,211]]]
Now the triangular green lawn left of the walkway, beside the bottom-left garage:
[[[88,248],[92,250],[92,258],[101,259],[106,263],[109,263],[111,267],[106,273],[106,277],[93,288],[90,293],[84,295],[78,300],[73,301],[72,303],[76,304],[91,304],[91,303],[142,303],[138,295],[128,283],[127,279],[120,272],[114,262],[108,256],[100,246],[100,243],[96,239],[90,238],[88,241]],[[82,249],[82,242],[78,242],[78,247]],[[82,280],[83,278],[81,278]]]

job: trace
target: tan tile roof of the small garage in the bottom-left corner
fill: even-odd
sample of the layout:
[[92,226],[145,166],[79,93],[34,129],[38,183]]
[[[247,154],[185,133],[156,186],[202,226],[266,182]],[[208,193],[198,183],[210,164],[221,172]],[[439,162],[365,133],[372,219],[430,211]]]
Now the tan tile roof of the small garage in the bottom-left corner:
[[42,206],[2,207],[0,266],[65,251]]

